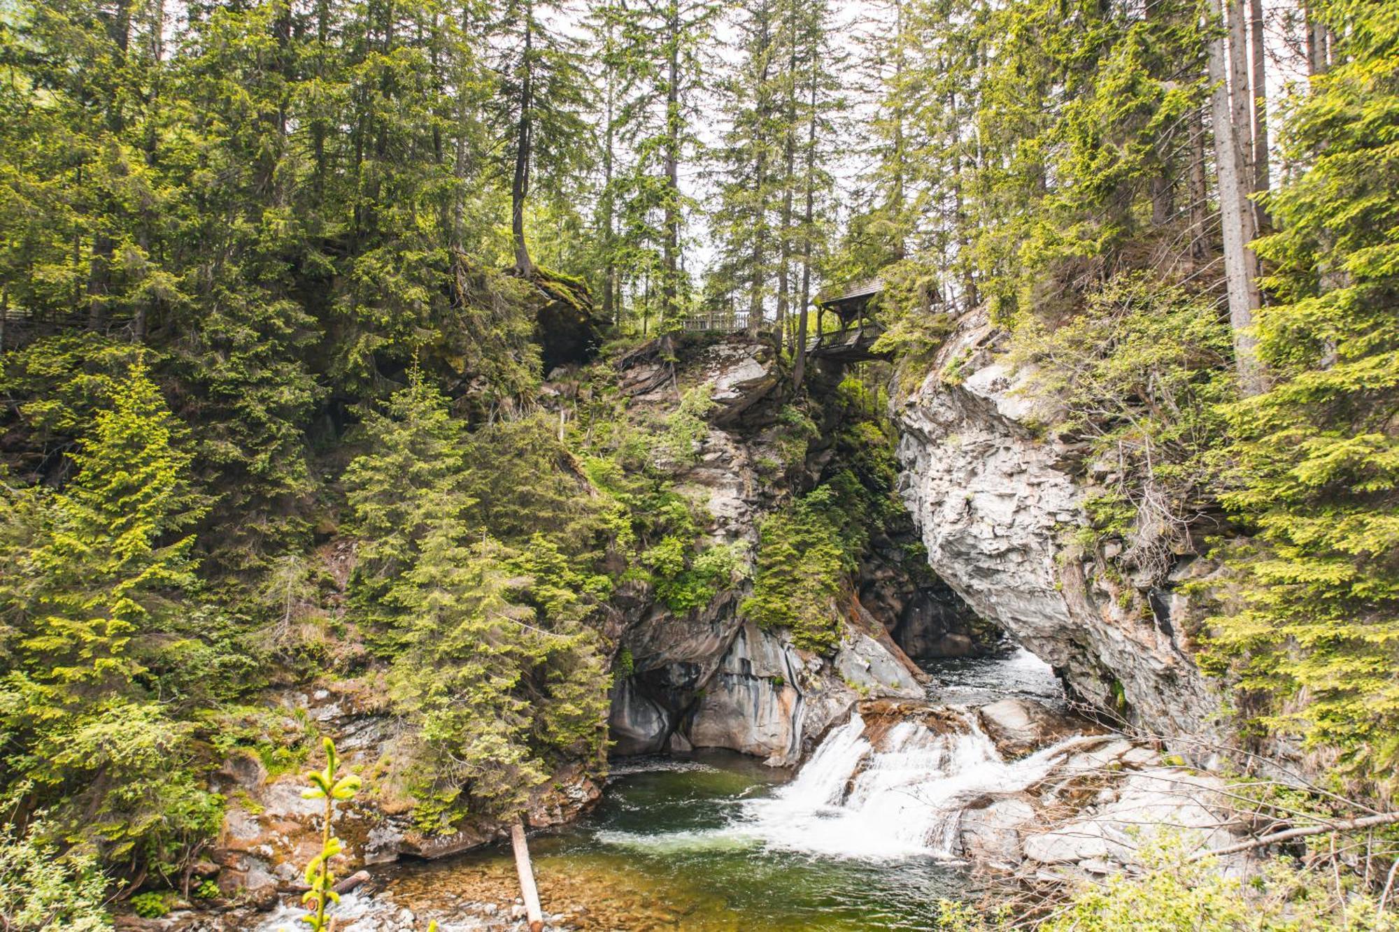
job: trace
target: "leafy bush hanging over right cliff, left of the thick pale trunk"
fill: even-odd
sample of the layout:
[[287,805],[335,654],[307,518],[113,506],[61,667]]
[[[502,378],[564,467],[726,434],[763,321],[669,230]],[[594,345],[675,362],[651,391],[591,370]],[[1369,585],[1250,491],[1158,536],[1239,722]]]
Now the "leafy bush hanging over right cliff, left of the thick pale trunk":
[[1189,550],[1216,490],[1230,346],[1212,299],[1149,276],[1114,278],[1052,330],[1021,322],[1011,358],[1059,400],[1053,430],[1087,441],[1102,476],[1084,502],[1088,543],[1121,539],[1121,561],[1157,577]]

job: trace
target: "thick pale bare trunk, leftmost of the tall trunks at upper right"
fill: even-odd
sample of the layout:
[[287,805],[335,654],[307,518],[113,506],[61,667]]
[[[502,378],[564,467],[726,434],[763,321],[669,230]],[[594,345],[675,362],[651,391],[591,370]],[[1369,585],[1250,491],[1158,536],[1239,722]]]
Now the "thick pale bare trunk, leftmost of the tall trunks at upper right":
[[[1235,14],[1242,0],[1230,0]],[[1220,0],[1210,0],[1220,14]],[[1258,340],[1249,333],[1254,311],[1259,306],[1258,259],[1248,243],[1254,239],[1254,211],[1248,204],[1248,172],[1242,160],[1240,136],[1247,133],[1248,111],[1235,120],[1237,108],[1228,85],[1228,60],[1224,36],[1216,35],[1209,48],[1214,150],[1219,168],[1220,224],[1224,234],[1224,274],[1228,287],[1228,316],[1234,333],[1234,364],[1244,395],[1263,390],[1263,369],[1258,358]]]

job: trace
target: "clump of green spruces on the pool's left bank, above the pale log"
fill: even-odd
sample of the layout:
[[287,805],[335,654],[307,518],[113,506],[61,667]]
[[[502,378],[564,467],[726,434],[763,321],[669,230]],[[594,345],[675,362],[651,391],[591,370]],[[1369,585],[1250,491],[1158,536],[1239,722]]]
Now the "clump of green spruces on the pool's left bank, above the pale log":
[[467,441],[418,376],[365,432],[372,452],[344,477],[369,539],[355,598],[414,725],[409,788],[448,803],[434,824],[515,814],[555,758],[603,746],[609,677],[586,626],[610,586],[589,568],[596,512],[544,421]]

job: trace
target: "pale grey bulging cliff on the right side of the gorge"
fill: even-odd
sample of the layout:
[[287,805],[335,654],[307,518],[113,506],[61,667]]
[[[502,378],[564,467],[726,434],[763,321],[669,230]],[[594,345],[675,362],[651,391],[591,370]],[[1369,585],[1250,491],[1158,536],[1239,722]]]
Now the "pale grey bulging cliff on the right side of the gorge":
[[1163,582],[1072,542],[1094,465],[1042,438],[1046,404],[977,315],[895,403],[902,495],[929,564],[1083,700],[1165,736],[1210,736],[1219,696],[1191,659],[1199,609],[1177,586],[1207,567],[1181,556]]

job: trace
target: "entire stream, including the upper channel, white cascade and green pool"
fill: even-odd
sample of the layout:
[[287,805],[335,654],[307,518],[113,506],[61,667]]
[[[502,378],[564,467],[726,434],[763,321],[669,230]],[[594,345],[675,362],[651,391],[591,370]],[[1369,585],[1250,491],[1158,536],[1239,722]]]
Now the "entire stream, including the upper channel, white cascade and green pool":
[[[929,697],[946,705],[1062,700],[1049,668],[1025,651],[925,669]],[[852,715],[795,777],[727,751],[617,761],[597,807],[530,841],[553,925],[935,928],[939,901],[968,890],[953,856],[960,803],[1034,782],[1053,749],[1007,764],[975,726],[942,736],[902,722],[877,751],[862,730]],[[376,880],[375,896],[344,898],[341,932],[407,928],[404,910],[417,928],[428,918],[442,932],[499,928],[492,917],[508,917],[518,893],[508,847],[402,862]],[[284,907],[260,928],[294,929],[297,915]]]

